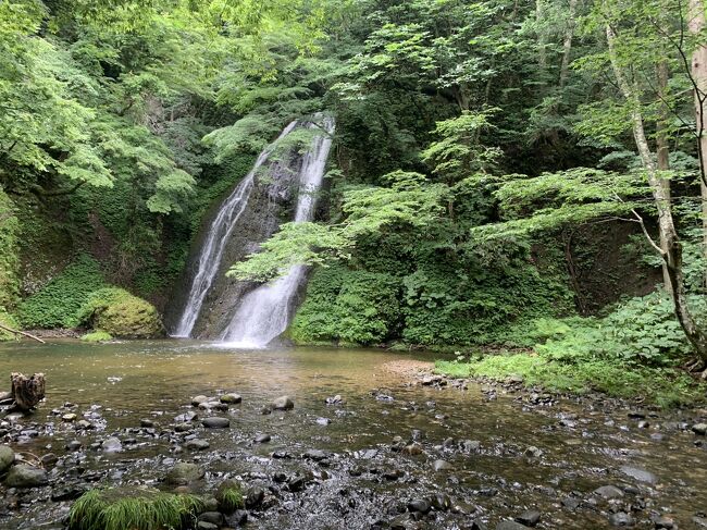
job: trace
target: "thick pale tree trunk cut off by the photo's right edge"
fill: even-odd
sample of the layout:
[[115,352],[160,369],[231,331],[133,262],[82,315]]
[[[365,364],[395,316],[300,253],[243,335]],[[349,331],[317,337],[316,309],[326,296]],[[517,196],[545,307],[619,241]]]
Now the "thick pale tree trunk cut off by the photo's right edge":
[[[705,5],[703,0],[690,0],[687,28],[698,36],[705,27]],[[707,256],[707,116],[705,99],[707,98],[707,46],[698,42],[692,54],[692,79],[695,84],[695,123],[697,133],[697,152],[699,153],[699,188],[702,196],[703,254]]]

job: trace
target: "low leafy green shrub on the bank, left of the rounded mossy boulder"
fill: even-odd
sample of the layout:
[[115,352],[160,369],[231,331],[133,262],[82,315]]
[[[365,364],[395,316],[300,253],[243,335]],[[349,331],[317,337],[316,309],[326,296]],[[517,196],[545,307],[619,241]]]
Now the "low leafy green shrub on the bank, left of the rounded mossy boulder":
[[79,311],[92,292],[104,287],[106,280],[96,260],[78,256],[58,276],[23,300],[17,318],[23,328],[76,328]]

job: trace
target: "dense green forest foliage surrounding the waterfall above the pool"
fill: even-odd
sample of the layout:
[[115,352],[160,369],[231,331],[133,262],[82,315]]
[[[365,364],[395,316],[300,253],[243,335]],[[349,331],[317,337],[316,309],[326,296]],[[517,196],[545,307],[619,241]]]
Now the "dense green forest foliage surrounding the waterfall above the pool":
[[[324,111],[318,220],[230,272],[310,266],[292,338],[524,347],[615,374],[704,365],[695,5],[3,2],[0,318],[157,333],[133,296],[164,309],[210,208]],[[666,294],[646,297],[660,268]]]

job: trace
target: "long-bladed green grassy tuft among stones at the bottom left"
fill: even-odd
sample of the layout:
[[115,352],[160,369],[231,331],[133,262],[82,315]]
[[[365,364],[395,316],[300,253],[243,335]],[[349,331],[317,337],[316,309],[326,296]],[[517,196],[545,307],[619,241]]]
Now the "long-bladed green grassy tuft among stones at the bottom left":
[[71,507],[71,530],[172,530],[203,509],[195,495],[157,490],[91,490]]

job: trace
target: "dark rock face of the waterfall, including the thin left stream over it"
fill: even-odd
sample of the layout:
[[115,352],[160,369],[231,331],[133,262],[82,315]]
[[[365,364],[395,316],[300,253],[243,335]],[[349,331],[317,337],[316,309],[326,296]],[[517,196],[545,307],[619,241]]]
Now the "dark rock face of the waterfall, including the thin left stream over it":
[[[325,119],[324,123],[331,124],[327,130],[333,132],[333,121]],[[313,135],[311,138],[293,135],[285,140],[295,131],[312,131]],[[306,197],[303,194],[310,197],[312,194],[312,189],[303,186],[302,172],[310,172],[311,151],[321,150],[322,134],[311,122],[292,123],[276,143],[260,155],[251,173],[207,215],[170,309],[165,311],[172,334],[207,340],[224,335],[240,301],[259,286],[255,282],[227,278],[226,272],[233,263],[257,251],[282,223],[301,217],[298,204]],[[331,138],[326,140],[324,161],[328,145]],[[320,172],[323,173],[323,164]],[[317,187],[314,192],[318,190]],[[312,200],[308,199],[308,220],[313,214]],[[302,274],[301,283],[305,279]],[[296,286],[297,292],[300,287]],[[297,295],[290,296],[286,304],[295,306]]]

